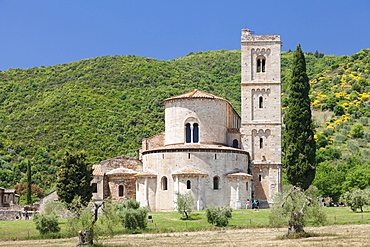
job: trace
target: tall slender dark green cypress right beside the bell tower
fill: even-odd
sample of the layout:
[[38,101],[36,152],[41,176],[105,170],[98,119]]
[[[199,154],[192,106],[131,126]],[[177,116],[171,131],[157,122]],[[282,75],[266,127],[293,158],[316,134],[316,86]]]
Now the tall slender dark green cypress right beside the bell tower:
[[292,75],[288,85],[288,108],[284,116],[283,167],[288,181],[306,190],[315,178],[314,126],[310,84],[301,46],[293,54]]

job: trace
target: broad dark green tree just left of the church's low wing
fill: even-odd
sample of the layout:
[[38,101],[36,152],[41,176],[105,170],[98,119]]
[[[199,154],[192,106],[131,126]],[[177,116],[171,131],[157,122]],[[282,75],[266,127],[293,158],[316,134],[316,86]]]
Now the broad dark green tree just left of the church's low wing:
[[81,204],[86,206],[92,197],[91,180],[92,169],[86,153],[66,152],[58,171],[56,188],[59,200],[70,204],[75,197],[80,197]]

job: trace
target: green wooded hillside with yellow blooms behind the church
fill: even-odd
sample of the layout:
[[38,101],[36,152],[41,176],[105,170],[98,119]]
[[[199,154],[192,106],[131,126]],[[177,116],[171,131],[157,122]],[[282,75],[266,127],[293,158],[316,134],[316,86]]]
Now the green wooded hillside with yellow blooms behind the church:
[[[292,54],[282,53],[283,92]],[[342,175],[355,176],[370,156],[370,50],[305,57],[321,148],[317,175],[338,171],[335,176],[341,180],[329,188],[342,193],[347,179]],[[106,56],[0,71],[0,186],[26,182],[28,158],[32,181],[48,193],[66,149],[86,150],[91,163],[135,156],[142,138],[164,130],[162,101],[195,88],[226,98],[240,112],[240,51],[197,52],[171,61]],[[284,107],[286,103],[283,95]],[[337,105],[342,108],[334,109]],[[351,132],[354,124],[362,125],[363,134],[361,127]],[[322,169],[321,162],[329,163]]]

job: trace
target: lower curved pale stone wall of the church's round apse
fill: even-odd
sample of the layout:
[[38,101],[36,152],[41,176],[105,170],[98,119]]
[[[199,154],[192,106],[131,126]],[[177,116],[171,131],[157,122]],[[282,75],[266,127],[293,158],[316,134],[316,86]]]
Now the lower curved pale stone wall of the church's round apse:
[[[191,191],[196,199],[198,195],[201,197],[203,209],[211,204],[219,206],[230,206],[235,203],[230,202],[231,180],[226,176],[236,170],[244,172],[248,171],[248,153],[244,151],[235,150],[180,150],[164,153],[147,153],[143,155],[144,169],[148,171],[155,171],[159,176],[154,180],[155,186],[151,185],[152,192],[149,192],[148,200],[152,205],[151,209],[154,211],[174,210],[175,193],[177,191],[186,192],[186,181],[190,180],[192,187]],[[182,178],[176,185],[174,174],[185,170],[195,170],[204,173],[198,180],[197,176],[189,176]],[[219,189],[213,188],[213,178],[219,177]],[[167,190],[162,187],[163,178],[167,178]],[[149,179],[148,179],[149,180]],[[137,200],[142,204],[147,200],[144,198],[145,193],[143,188],[144,179],[138,180],[139,191],[137,193]],[[180,187],[178,187],[180,186]],[[185,188],[185,189],[184,189]],[[200,190],[200,191],[199,191]],[[152,196],[152,194],[155,196]],[[250,196],[250,191],[241,190],[241,198],[246,200]],[[155,202],[151,201],[155,198]],[[153,206],[154,205],[154,206]]]

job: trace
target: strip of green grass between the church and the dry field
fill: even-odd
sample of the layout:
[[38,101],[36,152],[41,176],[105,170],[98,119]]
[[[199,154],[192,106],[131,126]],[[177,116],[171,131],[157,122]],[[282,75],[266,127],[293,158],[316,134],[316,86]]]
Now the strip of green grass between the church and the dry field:
[[[325,208],[329,225],[348,225],[348,224],[370,224],[370,208],[365,208],[363,213],[352,212],[347,207],[327,207]],[[234,210],[229,226],[222,228],[246,229],[269,227],[269,209],[254,210]],[[195,211],[192,219],[182,220],[177,212],[152,212],[153,223],[148,223],[148,228],[139,233],[169,233],[169,232],[192,232],[218,229],[207,223],[205,211]],[[61,233],[56,238],[68,237],[66,220],[60,219]],[[308,224],[310,226],[310,224]],[[114,228],[115,234],[130,233],[121,225]],[[41,236],[35,228],[32,220],[0,221],[0,239],[42,239],[51,236]]]

